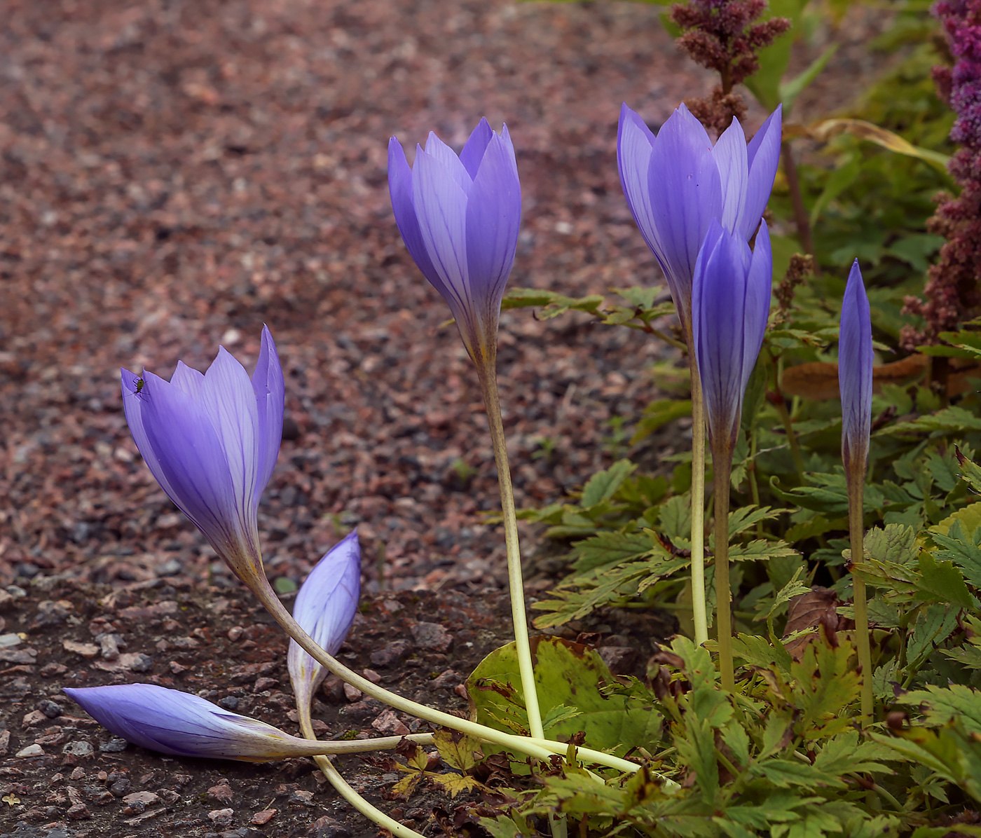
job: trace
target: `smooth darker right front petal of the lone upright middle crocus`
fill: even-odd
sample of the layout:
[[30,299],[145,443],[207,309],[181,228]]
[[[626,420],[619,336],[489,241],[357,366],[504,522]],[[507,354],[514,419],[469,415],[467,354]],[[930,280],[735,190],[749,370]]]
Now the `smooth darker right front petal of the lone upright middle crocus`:
[[487,334],[496,332],[500,300],[514,265],[521,226],[521,183],[503,140],[490,137],[467,201],[467,272],[475,310]]

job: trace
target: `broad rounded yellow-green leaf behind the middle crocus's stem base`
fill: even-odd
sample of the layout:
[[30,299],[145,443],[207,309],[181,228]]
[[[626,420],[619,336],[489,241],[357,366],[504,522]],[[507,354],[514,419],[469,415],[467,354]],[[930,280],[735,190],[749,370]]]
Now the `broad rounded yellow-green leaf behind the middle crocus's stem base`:
[[[556,637],[533,637],[531,643],[542,713],[547,716],[556,707],[578,711],[574,717],[553,721],[552,738],[565,740],[582,731],[592,748],[621,754],[634,747],[653,749],[659,739],[660,715],[637,697],[604,695],[600,687],[616,680],[594,650]],[[506,689],[495,686],[501,684]],[[516,689],[520,684],[513,643],[485,657],[467,679],[477,721],[501,729],[498,718],[515,718],[527,728],[524,699]],[[493,750],[482,747],[485,752]]]

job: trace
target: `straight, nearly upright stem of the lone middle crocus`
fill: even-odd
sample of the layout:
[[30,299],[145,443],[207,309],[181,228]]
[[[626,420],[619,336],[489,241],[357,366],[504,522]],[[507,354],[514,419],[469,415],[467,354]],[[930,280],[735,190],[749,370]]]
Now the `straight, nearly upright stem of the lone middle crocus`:
[[504,522],[504,543],[507,548],[507,582],[511,592],[511,621],[514,623],[514,645],[518,653],[518,672],[521,690],[528,711],[528,727],[532,737],[544,738],[542,710],[535,686],[535,666],[532,647],[528,639],[528,614],[525,610],[525,586],[521,576],[521,548],[518,545],[518,519],[514,511],[514,490],[511,486],[511,467],[507,461],[507,441],[504,438],[504,422],[500,415],[500,395],[497,392],[497,374],[493,360],[477,363],[477,374],[484,393],[490,423],[490,441],[497,466],[497,482],[500,485],[500,508]]

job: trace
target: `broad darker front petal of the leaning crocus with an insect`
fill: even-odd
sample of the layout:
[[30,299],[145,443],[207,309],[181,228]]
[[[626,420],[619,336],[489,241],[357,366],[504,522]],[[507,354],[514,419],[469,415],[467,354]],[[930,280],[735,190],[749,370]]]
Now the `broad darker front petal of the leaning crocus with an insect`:
[[255,523],[250,528],[243,519],[215,427],[202,405],[187,393],[151,372],[143,373],[143,381],[140,417],[156,467],[149,460],[147,464],[167,495],[229,560],[232,552],[240,552],[242,544],[254,537]]

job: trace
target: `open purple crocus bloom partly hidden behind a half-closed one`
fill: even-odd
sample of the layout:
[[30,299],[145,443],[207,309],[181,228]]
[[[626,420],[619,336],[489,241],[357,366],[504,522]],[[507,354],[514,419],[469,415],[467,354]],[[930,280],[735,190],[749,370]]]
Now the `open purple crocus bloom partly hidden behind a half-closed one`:
[[684,103],[655,136],[626,104],[620,110],[620,183],[657,258],[688,330],[701,242],[713,220],[749,241],[773,188],[780,159],[778,107],[746,143],[738,120],[712,145]]

